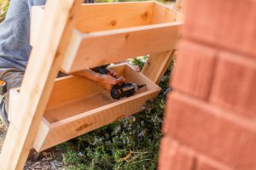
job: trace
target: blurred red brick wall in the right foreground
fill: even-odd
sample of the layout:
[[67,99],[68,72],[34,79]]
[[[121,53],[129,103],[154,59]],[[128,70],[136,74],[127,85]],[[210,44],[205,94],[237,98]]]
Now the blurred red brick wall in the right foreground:
[[160,170],[256,169],[256,0],[187,0]]

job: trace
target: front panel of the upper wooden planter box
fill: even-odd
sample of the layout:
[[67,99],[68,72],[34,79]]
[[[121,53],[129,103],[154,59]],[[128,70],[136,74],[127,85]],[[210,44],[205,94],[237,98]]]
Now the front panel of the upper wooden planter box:
[[89,34],[74,31],[61,69],[66,72],[80,71],[173,49],[181,37],[182,24],[177,21]]

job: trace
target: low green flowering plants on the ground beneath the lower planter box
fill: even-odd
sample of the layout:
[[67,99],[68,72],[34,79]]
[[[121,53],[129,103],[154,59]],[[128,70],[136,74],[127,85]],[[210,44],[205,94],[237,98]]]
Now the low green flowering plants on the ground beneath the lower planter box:
[[[143,65],[143,58],[131,62]],[[161,125],[173,61],[160,82],[160,95],[133,116],[57,146],[68,170],[157,169]]]

